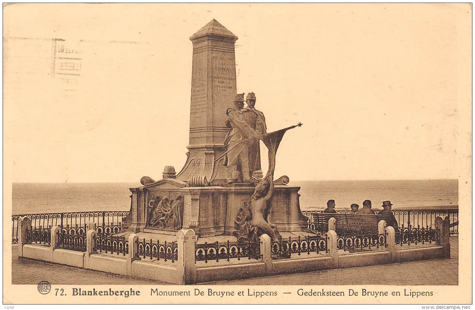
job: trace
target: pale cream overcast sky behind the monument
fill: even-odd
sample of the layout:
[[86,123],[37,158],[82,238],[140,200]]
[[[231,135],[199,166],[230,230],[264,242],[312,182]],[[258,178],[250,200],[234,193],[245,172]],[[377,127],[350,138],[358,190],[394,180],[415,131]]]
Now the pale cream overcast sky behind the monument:
[[[276,177],[456,179],[471,138],[471,14],[469,4],[10,5],[6,169],[13,182],[180,171],[189,37],[214,18],[239,38],[237,92],[256,93],[268,131],[304,124],[286,133]],[[77,85],[54,74],[52,38],[79,51]]]

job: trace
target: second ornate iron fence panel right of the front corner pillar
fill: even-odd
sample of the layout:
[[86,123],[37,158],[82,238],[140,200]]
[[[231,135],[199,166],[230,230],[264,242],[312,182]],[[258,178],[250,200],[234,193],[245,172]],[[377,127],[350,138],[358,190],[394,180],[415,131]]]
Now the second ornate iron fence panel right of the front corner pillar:
[[278,241],[271,242],[271,254],[277,255],[275,259],[290,258],[292,254],[301,255],[302,253],[316,252],[317,254],[324,252],[328,253],[328,237],[310,237],[292,239],[282,239],[279,237]]

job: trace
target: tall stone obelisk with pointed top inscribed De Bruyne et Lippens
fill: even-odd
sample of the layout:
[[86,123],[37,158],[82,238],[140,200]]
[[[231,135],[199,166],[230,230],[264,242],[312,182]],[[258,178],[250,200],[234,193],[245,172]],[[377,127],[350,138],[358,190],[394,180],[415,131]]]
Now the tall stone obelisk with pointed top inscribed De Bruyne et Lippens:
[[211,20],[190,37],[193,43],[191,71],[190,144],[185,166],[177,174],[180,181],[194,186],[220,184],[226,179],[223,158],[226,110],[234,106],[237,36]]

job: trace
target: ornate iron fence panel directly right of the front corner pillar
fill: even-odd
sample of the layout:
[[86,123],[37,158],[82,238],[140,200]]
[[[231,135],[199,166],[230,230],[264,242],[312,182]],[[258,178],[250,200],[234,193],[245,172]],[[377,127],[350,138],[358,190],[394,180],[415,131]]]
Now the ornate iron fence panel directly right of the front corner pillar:
[[261,245],[260,242],[214,242],[195,244],[195,262],[226,259],[228,262],[231,258],[260,259]]

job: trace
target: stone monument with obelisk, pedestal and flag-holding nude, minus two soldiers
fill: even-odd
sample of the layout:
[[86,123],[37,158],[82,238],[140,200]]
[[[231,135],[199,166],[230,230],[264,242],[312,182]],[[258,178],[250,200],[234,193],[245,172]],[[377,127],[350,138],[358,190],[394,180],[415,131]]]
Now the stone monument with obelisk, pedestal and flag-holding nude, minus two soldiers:
[[[193,65],[186,163],[179,173],[166,166],[161,180],[144,176],[143,186],[130,188],[131,209],[123,219],[124,232],[144,232],[148,238],[154,233],[156,239],[173,241],[178,230],[193,229],[203,242],[255,239],[263,232],[274,238],[312,235],[300,212],[300,187],[287,185],[286,176],[273,180],[278,143],[295,126],[258,133],[269,149],[269,171],[263,180],[227,184],[223,163],[229,150],[224,140],[229,131],[226,112],[234,107],[237,96],[237,36],[213,19],[190,40]],[[252,142],[258,142],[253,136]]]

